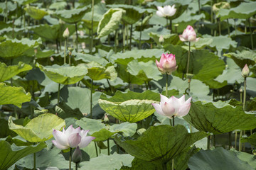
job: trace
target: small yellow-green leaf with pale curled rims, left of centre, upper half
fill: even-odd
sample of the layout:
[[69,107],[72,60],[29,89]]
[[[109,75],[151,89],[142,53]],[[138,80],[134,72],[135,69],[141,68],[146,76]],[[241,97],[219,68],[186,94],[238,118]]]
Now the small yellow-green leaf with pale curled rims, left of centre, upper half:
[[86,64],[88,73],[87,76],[92,80],[100,80],[100,79],[117,79],[117,72],[114,69],[114,66],[110,67],[102,67],[96,62],[90,62]]

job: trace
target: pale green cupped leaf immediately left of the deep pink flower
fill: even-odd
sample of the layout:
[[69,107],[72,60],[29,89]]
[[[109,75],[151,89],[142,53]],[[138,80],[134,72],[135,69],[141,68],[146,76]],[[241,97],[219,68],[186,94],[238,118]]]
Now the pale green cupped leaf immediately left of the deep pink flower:
[[150,81],[152,79],[158,81],[162,79],[162,74],[156,67],[154,61],[138,62],[138,60],[132,60],[127,65],[127,72],[141,79],[142,81]]

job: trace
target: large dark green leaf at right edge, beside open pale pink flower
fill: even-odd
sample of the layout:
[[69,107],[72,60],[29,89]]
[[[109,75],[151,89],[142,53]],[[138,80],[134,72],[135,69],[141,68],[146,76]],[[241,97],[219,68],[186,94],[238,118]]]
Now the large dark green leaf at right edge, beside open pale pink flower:
[[233,107],[222,101],[191,103],[188,115],[183,117],[196,129],[213,134],[231,132],[233,130],[251,130],[256,128],[256,117],[247,114],[242,106]]

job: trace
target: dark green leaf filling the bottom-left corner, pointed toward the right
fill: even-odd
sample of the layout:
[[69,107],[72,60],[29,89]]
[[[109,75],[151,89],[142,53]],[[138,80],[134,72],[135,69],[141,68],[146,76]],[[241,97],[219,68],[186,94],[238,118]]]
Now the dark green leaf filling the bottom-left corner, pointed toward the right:
[[4,140],[0,141],[0,169],[8,169],[11,165],[15,164],[18,159],[26,157],[28,154],[33,154],[41,151],[47,147],[43,142],[35,146],[16,147],[10,145],[9,142]]

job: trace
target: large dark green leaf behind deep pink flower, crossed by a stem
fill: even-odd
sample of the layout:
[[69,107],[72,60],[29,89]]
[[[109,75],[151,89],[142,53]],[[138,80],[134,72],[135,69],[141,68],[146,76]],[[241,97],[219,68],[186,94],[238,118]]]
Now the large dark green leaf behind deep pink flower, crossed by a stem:
[[[175,55],[178,65],[178,74],[175,75],[183,77],[183,74],[186,74],[188,51],[178,45],[166,45],[165,50],[169,50]],[[194,74],[193,79],[201,81],[215,79],[219,74],[222,74],[223,69],[225,69],[225,62],[212,52],[208,50],[193,50],[191,52],[188,73]]]

